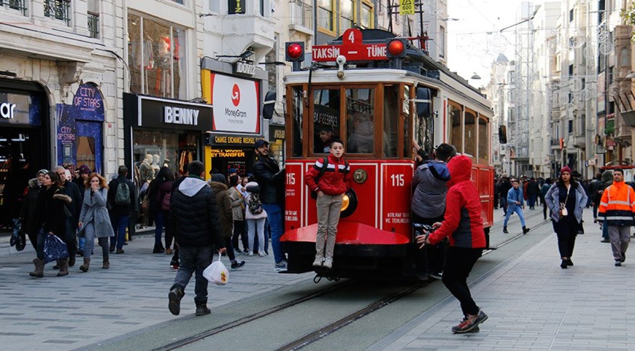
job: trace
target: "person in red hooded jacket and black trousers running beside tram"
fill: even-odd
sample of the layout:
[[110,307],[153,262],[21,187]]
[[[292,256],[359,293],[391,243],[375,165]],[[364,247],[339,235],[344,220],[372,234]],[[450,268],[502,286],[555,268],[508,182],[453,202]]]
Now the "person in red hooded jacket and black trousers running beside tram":
[[464,319],[452,327],[453,333],[478,331],[478,325],[488,316],[476,305],[467,286],[474,263],[483,254],[485,232],[481,219],[481,200],[478,190],[470,180],[472,160],[467,156],[455,156],[448,162],[450,181],[445,200],[443,222],[434,223],[433,232],[417,235],[417,243],[437,244],[445,237],[450,239],[443,268],[443,284],[461,303]]

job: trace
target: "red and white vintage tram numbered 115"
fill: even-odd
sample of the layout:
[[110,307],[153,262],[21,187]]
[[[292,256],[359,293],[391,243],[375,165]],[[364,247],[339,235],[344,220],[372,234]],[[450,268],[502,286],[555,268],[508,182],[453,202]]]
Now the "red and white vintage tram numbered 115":
[[[384,30],[349,29],[312,48],[286,44],[293,72],[286,84],[286,207],[281,238],[289,273],[311,272],[316,202],[304,174],[331,136],[345,142],[354,185],[345,195],[333,269],[328,277],[424,277],[415,262],[410,224],[413,138],[427,152],[447,142],[472,157],[472,181],[493,222],[491,108],[464,79],[434,62],[407,39]],[[424,279],[424,278],[422,278]]]

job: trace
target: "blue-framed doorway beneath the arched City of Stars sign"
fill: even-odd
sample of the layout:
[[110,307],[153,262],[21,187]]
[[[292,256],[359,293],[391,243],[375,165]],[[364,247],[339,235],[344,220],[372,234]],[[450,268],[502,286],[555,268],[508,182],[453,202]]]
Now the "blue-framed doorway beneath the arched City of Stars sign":
[[102,173],[102,123],[77,121],[76,167],[86,164],[91,170]]

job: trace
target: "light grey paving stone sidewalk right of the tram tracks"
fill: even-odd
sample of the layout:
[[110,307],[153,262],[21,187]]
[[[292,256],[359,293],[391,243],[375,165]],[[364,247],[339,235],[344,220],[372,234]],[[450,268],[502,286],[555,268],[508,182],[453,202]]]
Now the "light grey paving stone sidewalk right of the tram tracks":
[[635,350],[635,326],[629,323],[635,315],[635,251],[615,267],[591,211],[585,218],[573,267],[559,267],[553,234],[472,284],[474,300],[490,316],[479,333],[450,332],[462,318],[451,297],[371,349]]

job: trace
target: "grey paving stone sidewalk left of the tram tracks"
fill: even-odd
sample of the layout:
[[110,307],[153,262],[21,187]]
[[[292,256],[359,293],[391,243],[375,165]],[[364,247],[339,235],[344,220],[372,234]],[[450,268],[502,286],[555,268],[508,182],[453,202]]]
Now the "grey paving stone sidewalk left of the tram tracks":
[[[95,249],[90,270],[79,271],[82,258],[67,277],[57,277],[54,263],[43,278],[29,277],[35,252],[30,243],[16,253],[0,244],[0,349],[70,350],[94,345],[138,329],[194,314],[194,277],[185,291],[181,314],[168,311],[168,289],[176,270],[171,255],[152,254],[154,235],[137,237],[123,255],[110,255],[110,269],[101,267]],[[9,254],[11,252],[11,254]],[[312,275],[278,274],[273,256],[238,256],[243,268],[229,273],[230,284],[210,284],[208,307],[232,303],[312,279]],[[222,261],[229,267],[229,259]]]

